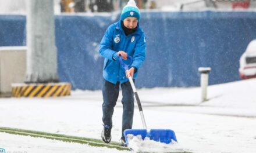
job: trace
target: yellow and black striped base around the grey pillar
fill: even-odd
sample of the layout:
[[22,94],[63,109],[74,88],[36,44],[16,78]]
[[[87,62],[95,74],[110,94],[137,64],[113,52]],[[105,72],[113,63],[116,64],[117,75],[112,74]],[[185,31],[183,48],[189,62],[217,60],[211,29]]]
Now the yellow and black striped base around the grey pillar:
[[70,83],[13,83],[12,97],[59,97],[69,96]]

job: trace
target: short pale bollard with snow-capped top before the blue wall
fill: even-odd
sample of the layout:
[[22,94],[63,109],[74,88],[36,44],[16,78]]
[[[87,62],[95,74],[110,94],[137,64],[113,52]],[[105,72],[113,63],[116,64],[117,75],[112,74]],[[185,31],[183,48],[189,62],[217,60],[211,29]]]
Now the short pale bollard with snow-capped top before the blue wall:
[[200,67],[198,71],[201,73],[201,102],[207,101],[207,86],[209,79],[209,72],[211,71],[210,67]]

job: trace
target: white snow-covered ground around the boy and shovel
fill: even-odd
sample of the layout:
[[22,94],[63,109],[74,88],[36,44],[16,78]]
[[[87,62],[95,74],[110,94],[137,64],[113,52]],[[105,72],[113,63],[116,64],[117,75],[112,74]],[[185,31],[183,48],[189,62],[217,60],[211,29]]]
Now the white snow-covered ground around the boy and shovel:
[[[191,152],[256,152],[256,79],[200,88],[140,89],[147,126],[172,129],[179,145]],[[122,95],[122,94],[120,94]],[[119,141],[122,104],[113,114],[112,141]],[[74,91],[49,99],[0,99],[0,126],[101,139],[101,91]],[[138,109],[134,129],[142,129]],[[6,152],[127,152],[0,133]]]

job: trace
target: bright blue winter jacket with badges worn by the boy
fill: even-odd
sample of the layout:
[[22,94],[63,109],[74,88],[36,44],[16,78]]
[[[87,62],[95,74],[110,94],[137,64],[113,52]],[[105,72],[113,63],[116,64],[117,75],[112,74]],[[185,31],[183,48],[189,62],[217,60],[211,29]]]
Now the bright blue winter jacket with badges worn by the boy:
[[[125,35],[121,21],[114,23],[108,27],[104,37],[99,45],[99,53],[105,57],[103,66],[103,77],[106,81],[116,84],[116,82],[129,81],[126,78],[125,69],[119,64],[118,52],[125,51],[128,56],[133,57],[133,63],[130,67],[135,67],[136,72],[133,76],[135,79],[138,69],[145,59],[145,35],[143,30],[137,27],[136,32],[130,35]],[[129,64],[129,60],[124,60]]]

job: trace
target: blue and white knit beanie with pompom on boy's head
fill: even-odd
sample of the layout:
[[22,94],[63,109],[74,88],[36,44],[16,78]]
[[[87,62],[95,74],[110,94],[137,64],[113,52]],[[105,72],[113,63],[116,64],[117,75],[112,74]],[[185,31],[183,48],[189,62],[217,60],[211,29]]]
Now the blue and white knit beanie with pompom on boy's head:
[[136,17],[138,21],[140,21],[140,10],[136,6],[134,0],[129,0],[127,5],[122,10],[121,21],[125,20],[126,17]]

